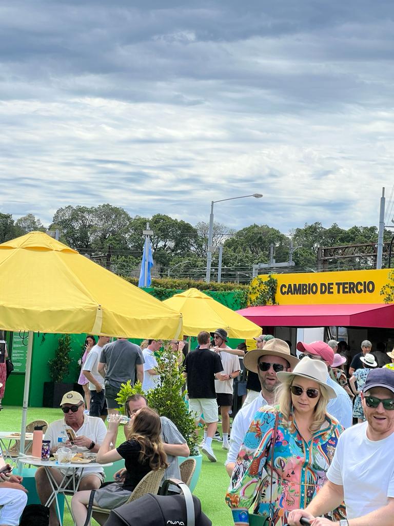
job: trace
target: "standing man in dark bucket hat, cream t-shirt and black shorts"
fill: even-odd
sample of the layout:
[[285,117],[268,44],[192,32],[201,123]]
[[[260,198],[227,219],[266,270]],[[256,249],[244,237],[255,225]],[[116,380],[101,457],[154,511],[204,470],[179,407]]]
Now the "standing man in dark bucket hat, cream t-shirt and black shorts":
[[230,449],[229,433],[230,433],[230,410],[233,405],[233,383],[234,378],[239,376],[241,372],[240,359],[227,350],[232,350],[227,343],[227,331],[224,329],[217,329],[214,332],[214,340],[216,347],[215,352],[219,351],[220,359],[222,360],[223,372],[219,375],[219,380],[215,380],[216,402],[217,407],[220,407],[220,414],[222,417],[222,434],[223,434],[223,449]]

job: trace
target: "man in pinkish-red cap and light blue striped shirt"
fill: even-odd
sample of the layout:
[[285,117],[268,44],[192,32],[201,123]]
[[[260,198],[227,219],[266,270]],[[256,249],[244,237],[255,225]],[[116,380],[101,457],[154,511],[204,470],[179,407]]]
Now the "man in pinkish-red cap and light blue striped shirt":
[[313,341],[312,343],[299,341],[297,350],[301,353],[299,355],[300,359],[304,356],[309,356],[312,360],[324,361],[328,368],[327,385],[332,387],[337,395],[336,398],[328,402],[327,412],[332,414],[345,429],[349,428],[353,423],[353,407],[350,397],[345,389],[333,380],[329,374],[334,362],[333,349],[324,341]]

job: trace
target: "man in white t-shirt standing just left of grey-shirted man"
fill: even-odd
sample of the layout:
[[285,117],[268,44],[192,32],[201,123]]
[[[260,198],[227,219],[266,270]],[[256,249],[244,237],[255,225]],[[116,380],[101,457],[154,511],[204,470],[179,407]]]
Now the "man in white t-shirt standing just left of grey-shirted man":
[[102,348],[109,343],[108,336],[99,336],[99,339],[86,358],[84,363],[85,377],[89,380],[90,390],[90,408],[89,415],[91,417],[101,417],[106,419],[107,403],[104,390],[104,378],[98,372],[98,365],[100,363],[100,355]]

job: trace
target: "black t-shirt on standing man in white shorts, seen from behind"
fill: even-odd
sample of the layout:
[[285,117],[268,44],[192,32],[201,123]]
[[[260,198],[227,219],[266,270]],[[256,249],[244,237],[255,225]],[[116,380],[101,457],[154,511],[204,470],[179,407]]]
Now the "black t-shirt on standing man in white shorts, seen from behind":
[[210,349],[194,349],[186,356],[189,398],[216,398],[215,373],[223,371],[220,356]]

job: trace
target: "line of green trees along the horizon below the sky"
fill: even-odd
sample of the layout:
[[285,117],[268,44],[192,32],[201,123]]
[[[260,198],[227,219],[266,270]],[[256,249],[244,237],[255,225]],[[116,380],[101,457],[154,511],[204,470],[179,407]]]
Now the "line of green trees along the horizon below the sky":
[[[96,207],[66,206],[59,208],[48,229],[59,229],[60,241],[98,260],[110,261],[111,268],[122,275],[129,275],[142,259],[144,238],[142,230],[149,222],[154,231],[151,237],[155,270],[159,274],[202,278],[208,250],[206,222],[191,225],[165,214],[152,217],[130,216],[121,207],[102,204]],[[11,214],[0,214],[0,242],[13,239],[33,230],[45,231],[39,218],[27,214],[14,221]],[[385,240],[392,232],[385,231]],[[340,228],[336,223],[326,228],[321,222],[305,224],[288,235],[268,225],[253,224],[235,230],[220,222],[214,223],[213,245],[223,245],[223,272],[250,276],[252,266],[268,263],[270,246],[274,247],[276,262],[289,259],[291,241],[294,248],[295,268],[316,267],[317,249],[339,245],[376,242],[375,226]],[[101,260],[99,261],[101,262]],[[347,268],[358,268],[359,261],[351,260]],[[333,261],[332,265],[337,265]],[[365,266],[368,266],[368,262]],[[174,268],[176,266],[176,268]],[[217,272],[217,254],[213,258],[212,279]],[[172,270],[173,269],[173,270]],[[231,277],[231,276],[230,276]],[[227,279],[228,280],[228,279]]]

